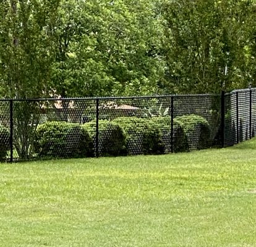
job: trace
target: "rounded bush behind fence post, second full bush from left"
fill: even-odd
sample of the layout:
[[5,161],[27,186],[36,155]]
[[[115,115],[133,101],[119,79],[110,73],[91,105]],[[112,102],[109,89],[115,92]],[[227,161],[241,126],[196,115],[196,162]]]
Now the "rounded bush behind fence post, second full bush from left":
[[[96,145],[96,123],[88,122],[82,125],[93,138]],[[108,120],[99,120],[99,146],[100,156],[121,156],[127,154],[126,136],[122,128]]]

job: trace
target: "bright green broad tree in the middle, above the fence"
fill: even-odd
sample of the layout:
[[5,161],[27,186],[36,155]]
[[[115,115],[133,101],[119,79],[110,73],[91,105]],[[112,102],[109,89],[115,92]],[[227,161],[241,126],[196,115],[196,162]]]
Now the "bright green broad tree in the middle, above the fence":
[[164,63],[151,1],[62,1],[56,30],[56,94],[156,93]]

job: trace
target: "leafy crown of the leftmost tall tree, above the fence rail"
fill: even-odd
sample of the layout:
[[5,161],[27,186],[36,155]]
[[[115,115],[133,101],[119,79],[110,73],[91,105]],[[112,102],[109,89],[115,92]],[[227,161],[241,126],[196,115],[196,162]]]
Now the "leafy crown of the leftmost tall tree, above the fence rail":
[[1,2],[0,78],[6,97],[37,98],[46,93],[58,5],[59,0]]

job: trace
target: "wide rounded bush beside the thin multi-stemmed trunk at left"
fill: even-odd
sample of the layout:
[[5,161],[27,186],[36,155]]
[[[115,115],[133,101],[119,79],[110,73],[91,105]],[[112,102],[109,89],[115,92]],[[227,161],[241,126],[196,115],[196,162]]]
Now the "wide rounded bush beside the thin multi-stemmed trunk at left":
[[40,157],[91,157],[92,138],[79,124],[45,122],[36,128],[35,153]]

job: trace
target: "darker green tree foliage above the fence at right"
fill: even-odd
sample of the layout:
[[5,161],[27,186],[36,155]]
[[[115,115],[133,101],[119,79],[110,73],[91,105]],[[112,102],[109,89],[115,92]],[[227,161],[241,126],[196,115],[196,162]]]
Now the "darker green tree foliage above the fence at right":
[[219,93],[254,80],[255,1],[161,2],[166,91]]

